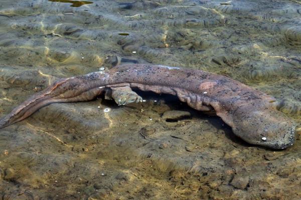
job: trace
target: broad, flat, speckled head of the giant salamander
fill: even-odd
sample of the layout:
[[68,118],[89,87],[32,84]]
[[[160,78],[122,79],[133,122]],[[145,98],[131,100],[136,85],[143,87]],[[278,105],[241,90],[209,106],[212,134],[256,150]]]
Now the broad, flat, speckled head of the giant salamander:
[[278,110],[239,107],[233,113],[233,132],[243,140],[261,146],[283,149],[295,140],[295,123]]

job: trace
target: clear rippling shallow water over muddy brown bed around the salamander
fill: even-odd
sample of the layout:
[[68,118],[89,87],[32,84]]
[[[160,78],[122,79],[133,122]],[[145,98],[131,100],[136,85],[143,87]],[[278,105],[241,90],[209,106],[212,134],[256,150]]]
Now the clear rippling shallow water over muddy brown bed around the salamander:
[[271,151],[171,96],[51,104],[0,130],[0,199],[301,198],[298,0],[1,0],[0,58],[1,116],[60,77],[156,63],[232,77],[298,123]]

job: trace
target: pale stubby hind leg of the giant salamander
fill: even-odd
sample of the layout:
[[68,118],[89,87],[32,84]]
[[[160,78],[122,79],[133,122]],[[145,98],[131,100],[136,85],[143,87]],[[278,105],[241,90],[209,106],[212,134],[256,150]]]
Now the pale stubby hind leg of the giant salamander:
[[142,101],[142,97],[131,90],[129,86],[111,87],[111,89],[111,96],[118,105]]

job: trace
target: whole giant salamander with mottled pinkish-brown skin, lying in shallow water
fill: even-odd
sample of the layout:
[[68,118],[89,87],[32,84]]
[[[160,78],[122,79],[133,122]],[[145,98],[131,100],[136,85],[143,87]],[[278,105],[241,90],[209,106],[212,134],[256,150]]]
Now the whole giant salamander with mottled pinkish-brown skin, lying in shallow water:
[[58,80],[2,118],[0,128],[49,103],[91,100],[103,92],[118,104],[139,101],[130,88],[177,95],[197,110],[214,109],[237,136],[252,144],[279,149],[294,142],[295,124],[276,109],[272,96],[223,75],[148,64],[119,65]]

